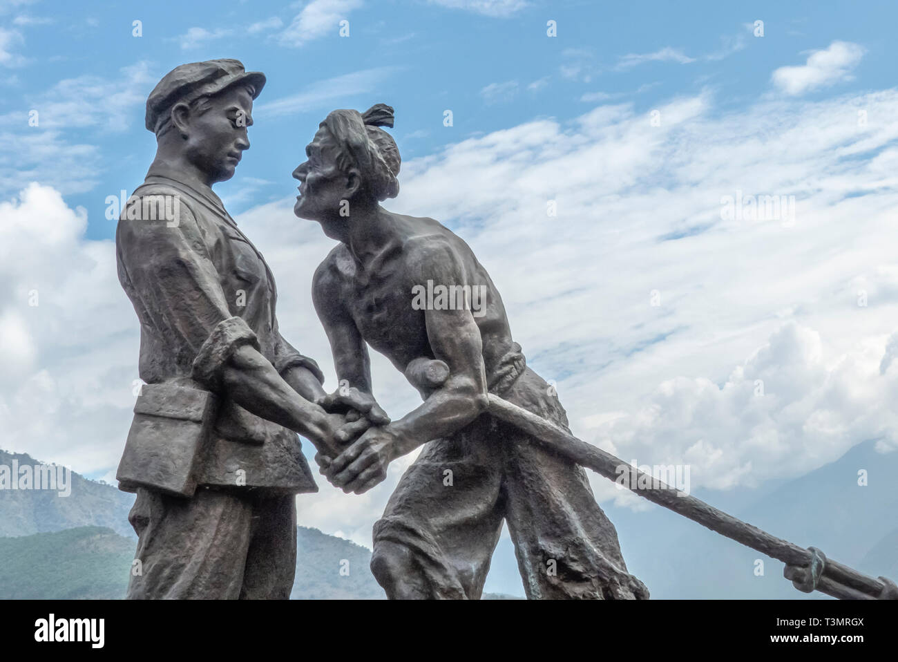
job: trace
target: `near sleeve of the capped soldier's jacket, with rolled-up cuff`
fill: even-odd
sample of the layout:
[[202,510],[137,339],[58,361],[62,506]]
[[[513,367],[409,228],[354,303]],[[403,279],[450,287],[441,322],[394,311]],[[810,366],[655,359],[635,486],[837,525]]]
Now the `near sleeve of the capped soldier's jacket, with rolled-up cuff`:
[[180,201],[175,223],[165,220],[163,209],[158,212],[149,217],[161,220],[128,220],[122,214],[116,232],[119,269],[127,275],[132,303],[154,327],[150,331],[176,353],[179,363],[192,363],[193,379],[219,391],[221,372],[234,350],[242,345],[259,349],[259,342],[246,322],[228,309],[189,207]]

